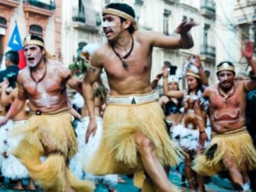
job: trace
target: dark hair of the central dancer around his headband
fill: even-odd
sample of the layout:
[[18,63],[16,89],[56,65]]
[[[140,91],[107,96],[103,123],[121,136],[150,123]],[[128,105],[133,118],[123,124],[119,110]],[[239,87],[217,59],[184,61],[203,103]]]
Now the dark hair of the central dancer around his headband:
[[[125,12],[126,14],[132,16],[135,19],[134,9],[132,9],[132,7],[129,6],[128,4],[113,2],[111,4],[106,5],[105,7],[106,8],[111,8],[111,9],[121,10],[122,12]],[[122,22],[125,22],[127,19],[125,19],[124,17],[120,17],[120,20],[121,20],[121,23],[122,23]],[[129,33],[134,33],[134,30],[135,30],[134,26],[131,23],[130,27],[128,28],[128,31],[129,31]]]

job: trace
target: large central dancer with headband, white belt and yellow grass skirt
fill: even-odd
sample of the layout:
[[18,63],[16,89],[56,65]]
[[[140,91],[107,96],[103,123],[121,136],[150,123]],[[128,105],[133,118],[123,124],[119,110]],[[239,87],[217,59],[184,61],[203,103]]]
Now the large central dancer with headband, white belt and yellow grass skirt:
[[83,81],[90,112],[86,141],[96,131],[92,85],[103,68],[110,91],[103,139],[85,170],[95,175],[135,173],[134,184],[142,191],[175,191],[164,166],[179,163],[179,150],[169,139],[163,111],[150,86],[151,54],[153,47],[192,48],[189,30],[195,23],[182,22],[176,30],[180,38],[139,31],[134,9],[122,3],[108,4],[103,10],[103,21],[108,42],[93,54],[91,69]]

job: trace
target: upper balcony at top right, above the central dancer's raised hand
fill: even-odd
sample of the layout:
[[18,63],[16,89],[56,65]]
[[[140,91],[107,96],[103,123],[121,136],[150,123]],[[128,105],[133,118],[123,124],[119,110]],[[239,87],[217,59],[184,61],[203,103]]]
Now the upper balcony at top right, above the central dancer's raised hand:
[[203,16],[210,19],[216,18],[216,4],[212,0],[202,0],[200,12]]

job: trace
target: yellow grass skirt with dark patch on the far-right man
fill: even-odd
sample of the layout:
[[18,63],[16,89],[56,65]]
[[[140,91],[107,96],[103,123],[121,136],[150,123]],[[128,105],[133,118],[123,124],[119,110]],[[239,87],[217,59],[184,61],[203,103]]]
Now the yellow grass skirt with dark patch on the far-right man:
[[256,168],[256,151],[245,128],[212,135],[210,147],[195,158],[192,169],[200,175],[213,176],[226,170],[228,161],[237,167],[245,163],[249,170]]

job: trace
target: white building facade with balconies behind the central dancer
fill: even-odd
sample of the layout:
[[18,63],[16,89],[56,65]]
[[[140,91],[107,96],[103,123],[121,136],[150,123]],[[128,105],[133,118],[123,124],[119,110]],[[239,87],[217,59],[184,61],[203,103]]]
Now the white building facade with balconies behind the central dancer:
[[[87,43],[104,43],[105,35],[101,28],[101,11],[109,2],[126,2],[134,7],[140,30],[154,30],[169,36],[178,36],[174,30],[182,20],[195,21],[198,27],[192,29],[195,46],[192,49],[164,50],[153,49],[152,77],[161,72],[165,61],[179,67],[188,56],[198,54],[215,81],[215,39],[212,29],[215,26],[215,1],[189,0],[63,0],[62,12],[62,51],[65,64],[79,56]],[[182,13],[182,14],[181,14]]]

